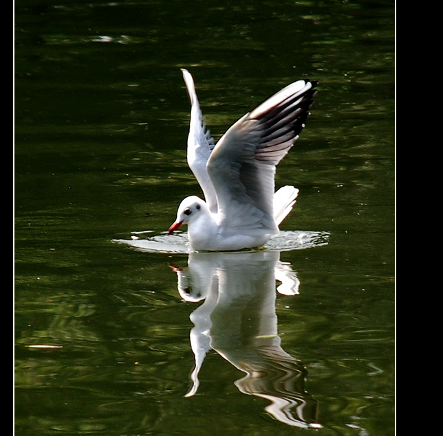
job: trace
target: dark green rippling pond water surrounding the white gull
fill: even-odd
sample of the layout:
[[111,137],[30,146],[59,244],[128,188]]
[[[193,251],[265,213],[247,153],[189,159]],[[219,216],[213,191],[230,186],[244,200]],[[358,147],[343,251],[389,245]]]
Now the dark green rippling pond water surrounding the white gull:
[[[15,2],[17,435],[395,433],[393,13],[387,1]],[[289,82],[319,80],[277,170],[300,189],[281,228],[329,234],[274,253],[299,295],[275,291],[273,255],[113,242],[161,236],[199,194],[180,67],[215,138]],[[199,265],[228,277],[219,300],[177,290],[172,266]],[[210,343],[185,396],[195,338]],[[272,395],[322,428],[285,422]]]

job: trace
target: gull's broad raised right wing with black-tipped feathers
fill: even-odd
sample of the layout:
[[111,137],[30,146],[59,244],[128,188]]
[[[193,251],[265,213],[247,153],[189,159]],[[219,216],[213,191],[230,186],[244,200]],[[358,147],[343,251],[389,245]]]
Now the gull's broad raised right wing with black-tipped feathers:
[[[276,165],[305,126],[316,82],[299,80],[231,126],[208,159],[221,221],[246,234],[278,233],[274,220]],[[220,222],[220,224],[222,224]]]

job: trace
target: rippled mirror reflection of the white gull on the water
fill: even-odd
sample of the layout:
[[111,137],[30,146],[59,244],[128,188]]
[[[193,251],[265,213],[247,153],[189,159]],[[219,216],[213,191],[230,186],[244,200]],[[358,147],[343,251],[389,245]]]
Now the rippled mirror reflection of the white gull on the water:
[[[298,293],[299,280],[278,252],[191,253],[188,268],[173,267],[186,301],[203,301],[191,313],[195,368],[187,397],[199,387],[206,352],[214,349],[246,376],[235,382],[248,395],[271,402],[277,420],[314,428],[316,400],[304,390],[307,372],[281,347],[275,313],[276,271],[285,293]],[[292,292],[290,286],[292,284]]]

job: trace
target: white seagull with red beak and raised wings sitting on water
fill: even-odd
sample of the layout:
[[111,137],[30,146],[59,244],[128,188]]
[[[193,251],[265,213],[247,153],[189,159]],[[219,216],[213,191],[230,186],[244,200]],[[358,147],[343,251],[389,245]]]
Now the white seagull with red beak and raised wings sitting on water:
[[191,73],[182,69],[191,100],[187,161],[205,200],[185,198],[169,234],[188,225],[195,251],[237,251],[263,246],[279,233],[299,190],[274,192],[276,166],[310,115],[316,80],[297,80],[246,113],[215,143],[206,128]]

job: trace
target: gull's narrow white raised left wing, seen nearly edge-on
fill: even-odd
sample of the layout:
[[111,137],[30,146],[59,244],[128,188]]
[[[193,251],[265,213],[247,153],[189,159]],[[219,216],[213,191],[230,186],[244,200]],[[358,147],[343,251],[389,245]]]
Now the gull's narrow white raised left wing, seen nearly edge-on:
[[202,188],[206,204],[211,212],[217,212],[217,199],[213,183],[210,181],[206,170],[206,163],[210,157],[215,144],[210,136],[209,130],[203,122],[202,111],[200,109],[197,93],[195,93],[194,81],[186,69],[182,69],[184,83],[191,100],[191,122],[188,134],[187,159],[189,168],[195,175],[195,179]]

